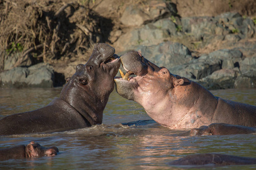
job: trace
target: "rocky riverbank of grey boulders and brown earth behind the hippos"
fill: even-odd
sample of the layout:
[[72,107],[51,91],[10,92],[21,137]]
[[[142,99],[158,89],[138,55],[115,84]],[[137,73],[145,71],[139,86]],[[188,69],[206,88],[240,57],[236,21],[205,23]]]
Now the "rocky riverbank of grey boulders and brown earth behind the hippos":
[[[167,67],[172,74],[195,80],[208,89],[255,88],[256,2],[177,2],[91,2],[89,6],[93,14],[111,24],[105,25],[108,28],[101,24],[98,36],[89,41],[92,46],[96,42],[108,42],[118,54],[139,50],[156,65]],[[81,12],[82,5],[79,5]],[[198,11],[200,8],[203,8],[201,13]],[[205,11],[205,8],[209,10]],[[80,25],[80,28],[83,27]],[[103,33],[105,29],[110,30],[108,34]],[[5,57],[5,71],[0,73],[1,86],[59,86],[65,82],[64,77],[75,73],[77,64],[86,62],[88,57],[85,55],[90,53],[90,48],[82,54],[77,52],[75,57],[74,54],[66,55],[65,58],[53,59],[49,64],[38,63],[37,69],[29,59],[22,62],[23,66],[11,69],[18,61],[11,54],[13,57]],[[42,83],[38,83],[40,81]]]

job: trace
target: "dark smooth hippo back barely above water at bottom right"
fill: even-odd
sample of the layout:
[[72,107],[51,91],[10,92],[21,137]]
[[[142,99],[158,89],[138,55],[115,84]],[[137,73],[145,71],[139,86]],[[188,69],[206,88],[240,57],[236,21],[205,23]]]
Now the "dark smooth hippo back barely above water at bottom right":
[[256,158],[222,154],[196,154],[174,160],[169,165],[246,165],[256,164]]

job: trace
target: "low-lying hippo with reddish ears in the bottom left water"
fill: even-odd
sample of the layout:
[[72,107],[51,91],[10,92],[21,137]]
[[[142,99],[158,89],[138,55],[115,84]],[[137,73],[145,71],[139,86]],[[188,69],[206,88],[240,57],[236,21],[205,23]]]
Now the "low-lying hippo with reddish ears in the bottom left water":
[[59,153],[57,147],[43,147],[32,141],[26,146],[18,145],[0,149],[0,160],[55,156],[57,153]]

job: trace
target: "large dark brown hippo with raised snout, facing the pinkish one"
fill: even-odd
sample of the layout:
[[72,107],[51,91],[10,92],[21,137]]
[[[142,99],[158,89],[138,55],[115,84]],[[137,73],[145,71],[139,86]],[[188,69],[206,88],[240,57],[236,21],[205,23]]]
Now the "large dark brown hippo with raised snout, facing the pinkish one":
[[0,135],[52,133],[101,124],[121,65],[115,49],[96,44],[85,65],[77,65],[60,97],[35,111],[12,114],[0,120]]

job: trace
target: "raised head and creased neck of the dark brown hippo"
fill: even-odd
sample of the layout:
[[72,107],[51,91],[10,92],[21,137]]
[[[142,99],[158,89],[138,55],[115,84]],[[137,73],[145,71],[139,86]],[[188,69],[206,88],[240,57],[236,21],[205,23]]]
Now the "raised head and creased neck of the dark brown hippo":
[[114,90],[114,76],[121,64],[115,49],[96,44],[85,65],[77,65],[60,98],[75,108],[90,125],[102,123],[102,113]]

